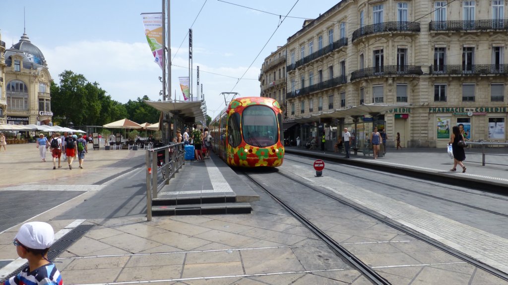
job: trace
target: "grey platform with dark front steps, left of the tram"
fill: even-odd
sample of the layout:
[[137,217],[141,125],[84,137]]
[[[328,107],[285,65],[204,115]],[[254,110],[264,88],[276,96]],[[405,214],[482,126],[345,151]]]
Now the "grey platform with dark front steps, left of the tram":
[[185,165],[152,200],[153,216],[250,213],[259,195],[216,155]]

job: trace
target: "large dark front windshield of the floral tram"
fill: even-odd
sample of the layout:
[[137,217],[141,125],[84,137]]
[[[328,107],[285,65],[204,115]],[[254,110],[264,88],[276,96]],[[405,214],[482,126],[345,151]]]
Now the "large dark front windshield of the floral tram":
[[251,146],[273,146],[279,139],[275,112],[268,106],[252,105],[242,112],[243,140]]

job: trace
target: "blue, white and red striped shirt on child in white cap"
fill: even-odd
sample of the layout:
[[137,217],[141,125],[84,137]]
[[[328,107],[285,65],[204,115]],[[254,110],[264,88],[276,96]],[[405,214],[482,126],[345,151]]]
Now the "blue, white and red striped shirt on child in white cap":
[[62,285],[62,276],[60,271],[56,269],[53,263],[48,263],[37,268],[32,272],[28,272],[29,267],[26,266],[18,275],[9,278],[4,285]]

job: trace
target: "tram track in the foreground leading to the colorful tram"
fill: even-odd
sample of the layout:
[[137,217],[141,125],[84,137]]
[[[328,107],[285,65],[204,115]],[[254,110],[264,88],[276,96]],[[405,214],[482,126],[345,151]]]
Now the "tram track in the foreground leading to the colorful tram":
[[[365,274],[365,276],[368,276],[372,282],[374,282],[376,284],[377,283],[389,284],[389,282],[386,283],[387,281],[383,277],[379,276],[380,277],[380,279],[379,279],[379,277],[377,277],[378,274],[372,268],[370,268],[368,265],[365,265],[361,260],[359,260],[354,255],[352,255],[350,252],[345,250],[345,248],[343,248],[337,241],[331,239],[319,227],[316,227],[315,225],[313,225],[307,218],[305,218],[301,213],[299,213],[298,210],[294,209],[287,202],[284,202],[280,197],[277,197],[277,195],[275,193],[273,193],[273,191],[271,191],[269,189],[269,187],[267,187],[266,182],[263,182],[263,180],[260,181],[260,180],[256,179],[255,177],[252,177],[252,175],[250,175],[246,172],[243,172],[243,173],[245,176],[248,177],[249,180],[251,180],[253,183],[255,183],[260,188],[262,188],[264,191],[266,191],[266,193],[268,193],[275,201],[277,201],[280,205],[282,205],[285,209],[287,209],[291,213],[291,215],[293,215],[295,218],[297,218],[309,230],[311,230],[314,234],[316,234],[316,236],[318,236],[326,244],[328,244],[329,247],[332,248],[332,250],[338,256],[342,257],[344,260],[350,261],[354,267],[356,267],[359,271],[361,271],[363,274]],[[333,199],[334,201],[336,201],[342,205],[351,207],[351,208],[355,209],[356,211],[362,213],[363,215],[373,218],[382,224],[388,225],[389,227],[396,229],[396,230],[400,231],[401,233],[405,233],[411,237],[414,237],[420,241],[423,241],[429,245],[432,245],[435,248],[437,248],[439,251],[442,251],[442,252],[447,253],[451,256],[454,256],[454,257],[456,257],[464,262],[467,262],[475,267],[481,268],[492,275],[495,275],[499,278],[502,278],[502,279],[508,281],[508,274],[507,273],[505,273],[493,266],[485,264],[475,258],[472,258],[466,254],[463,254],[462,252],[455,250],[455,248],[452,248],[446,244],[443,244],[437,240],[434,240],[434,239],[432,239],[432,238],[430,238],[430,237],[428,237],[428,236],[426,236],[414,229],[408,228],[407,226],[404,226],[396,221],[393,221],[388,217],[380,215],[379,213],[377,213],[375,211],[366,209],[361,205],[357,205],[347,199],[337,197],[336,195],[331,194],[328,190],[318,189],[317,187],[315,187],[314,185],[311,185],[310,183],[307,183],[303,179],[296,179],[294,177],[294,175],[285,174],[285,173],[282,173],[281,171],[277,171],[274,173],[276,173],[277,175],[283,176],[284,179],[291,180],[292,182],[298,183],[305,188],[311,189],[311,190],[315,191],[316,193],[319,193],[320,195],[324,195],[329,199]],[[342,248],[343,248],[343,250],[342,250]]]

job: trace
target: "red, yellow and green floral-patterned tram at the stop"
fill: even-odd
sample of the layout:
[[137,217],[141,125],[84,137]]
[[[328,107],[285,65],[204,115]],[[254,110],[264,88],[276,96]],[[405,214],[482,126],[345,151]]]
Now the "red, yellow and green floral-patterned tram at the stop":
[[208,129],[213,151],[230,166],[282,165],[282,111],[272,98],[233,99]]

